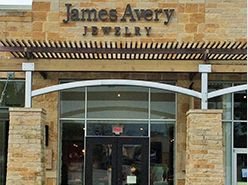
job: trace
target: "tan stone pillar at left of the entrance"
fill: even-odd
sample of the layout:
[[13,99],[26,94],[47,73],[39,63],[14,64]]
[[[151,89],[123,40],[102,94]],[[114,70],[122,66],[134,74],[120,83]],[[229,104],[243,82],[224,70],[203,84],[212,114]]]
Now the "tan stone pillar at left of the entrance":
[[45,184],[45,113],[10,108],[7,185]]

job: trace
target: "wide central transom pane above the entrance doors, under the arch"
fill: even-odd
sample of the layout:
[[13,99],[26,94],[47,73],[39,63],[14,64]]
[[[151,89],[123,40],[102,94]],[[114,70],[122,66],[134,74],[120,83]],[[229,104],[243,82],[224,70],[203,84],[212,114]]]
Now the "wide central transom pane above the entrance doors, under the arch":
[[88,88],[88,118],[148,118],[148,89],[129,86]]

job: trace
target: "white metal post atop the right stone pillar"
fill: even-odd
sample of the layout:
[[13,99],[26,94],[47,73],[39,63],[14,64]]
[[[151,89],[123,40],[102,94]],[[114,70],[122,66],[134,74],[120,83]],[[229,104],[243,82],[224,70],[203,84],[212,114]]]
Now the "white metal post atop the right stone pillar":
[[208,109],[208,73],[211,73],[210,64],[200,64],[201,73],[201,109]]

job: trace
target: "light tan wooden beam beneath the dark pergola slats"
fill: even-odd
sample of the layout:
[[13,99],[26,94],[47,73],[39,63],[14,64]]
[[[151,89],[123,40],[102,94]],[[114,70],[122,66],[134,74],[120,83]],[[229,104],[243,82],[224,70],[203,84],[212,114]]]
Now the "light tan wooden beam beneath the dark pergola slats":
[[[0,71],[22,71],[23,62],[35,64],[38,72],[198,72],[198,65],[203,61],[174,60],[174,61],[148,61],[148,60],[65,60],[65,59],[2,59]],[[246,73],[246,61],[229,62],[218,61],[212,64],[214,73]],[[237,63],[237,64],[235,64]],[[211,64],[211,61],[210,61]]]

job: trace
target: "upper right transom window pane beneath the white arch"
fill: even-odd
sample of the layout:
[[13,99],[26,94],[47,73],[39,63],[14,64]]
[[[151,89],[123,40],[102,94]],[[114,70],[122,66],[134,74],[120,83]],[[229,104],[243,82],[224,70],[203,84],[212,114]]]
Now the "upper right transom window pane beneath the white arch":
[[175,119],[175,93],[151,89],[151,119]]

